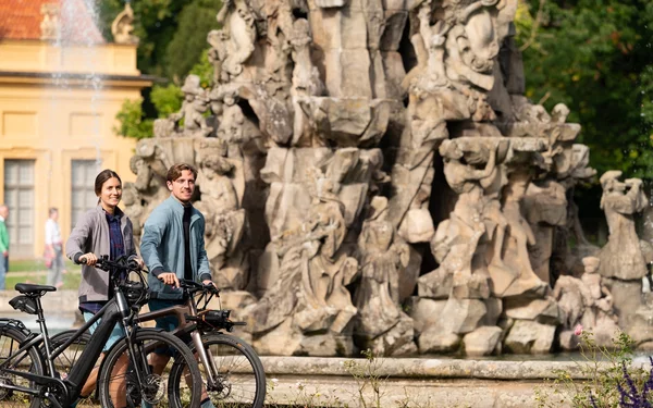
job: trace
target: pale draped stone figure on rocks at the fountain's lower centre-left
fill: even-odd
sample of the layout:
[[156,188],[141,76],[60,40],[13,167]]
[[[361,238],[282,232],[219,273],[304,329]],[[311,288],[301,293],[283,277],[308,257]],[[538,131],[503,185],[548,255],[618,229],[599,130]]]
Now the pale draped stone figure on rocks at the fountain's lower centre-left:
[[[280,259],[280,276],[251,311],[255,344],[259,339],[260,346],[283,354],[336,355],[352,348],[350,336],[338,337],[357,311],[345,286],[357,275],[358,262],[342,250],[347,227],[337,184],[318,169],[310,173],[312,199],[305,219],[273,236],[269,248]],[[299,342],[264,345],[280,332]],[[320,335],[328,348],[313,349],[317,344],[310,336],[301,342],[303,333]]]

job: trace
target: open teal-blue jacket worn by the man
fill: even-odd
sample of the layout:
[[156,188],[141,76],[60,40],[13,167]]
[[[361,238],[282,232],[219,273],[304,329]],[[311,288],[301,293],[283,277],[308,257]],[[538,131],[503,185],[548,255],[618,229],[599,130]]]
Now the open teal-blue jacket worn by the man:
[[[157,299],[181,299],[182,292],[165,285],[157,277],[162,272],[174,272],[184,277],[184,206],[170,196],[148,217],[140,239],[140,256],[150,271],[150,295]],[[209,259],[205,249],[205,219],[193,208],[190,215],[190,263],[196,282],[211,279]]]

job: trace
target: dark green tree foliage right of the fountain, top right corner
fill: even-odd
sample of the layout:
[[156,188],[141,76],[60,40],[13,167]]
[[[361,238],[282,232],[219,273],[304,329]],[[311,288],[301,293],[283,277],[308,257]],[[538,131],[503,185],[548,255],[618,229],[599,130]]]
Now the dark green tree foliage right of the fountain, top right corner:
[[527,96],[564,102],[602,174],[653,176],[653,2],[520,0]]

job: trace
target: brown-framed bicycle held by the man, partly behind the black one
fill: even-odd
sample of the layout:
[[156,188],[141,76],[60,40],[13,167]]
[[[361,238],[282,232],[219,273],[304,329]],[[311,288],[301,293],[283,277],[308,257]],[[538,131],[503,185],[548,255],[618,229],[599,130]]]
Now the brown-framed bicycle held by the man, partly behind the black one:
[[[189,280],[180,280],[180,285],[187,299],[185,305],[140,313],[135,320],[144,323],[165,316],[178,319],[178,327],[171,333],[190,337],[188,346],[200,362],[205,390],[215,407],[262,407],[266,373],[258,355],[243,339],[223,333],[245,323],[231,321],[231,310],[208,309],[211,299],[220,296],[215,286]],[[65,337],[66,333],[60,336]],[[170,378],[180,381],[180,375],[175,370]]]

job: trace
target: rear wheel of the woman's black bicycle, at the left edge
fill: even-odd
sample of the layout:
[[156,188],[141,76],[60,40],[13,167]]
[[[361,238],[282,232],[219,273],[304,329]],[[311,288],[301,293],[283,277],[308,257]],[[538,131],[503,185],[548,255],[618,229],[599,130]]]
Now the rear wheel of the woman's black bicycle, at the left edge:
[[[34,388],[36,384],[15,374],[9,374],[4,370],[24,371],[37,375],[44,375],[42,356],[36,347],[29,347],[17,358],[9,357],[21,348],[21,343],[27,338],[15,327],[0,327],[0,406],[37,408],[41,405],[39,397],[29,394],[7,390],[4,385],[16,385]],[[8,363],[9,360],[9,363]]]

